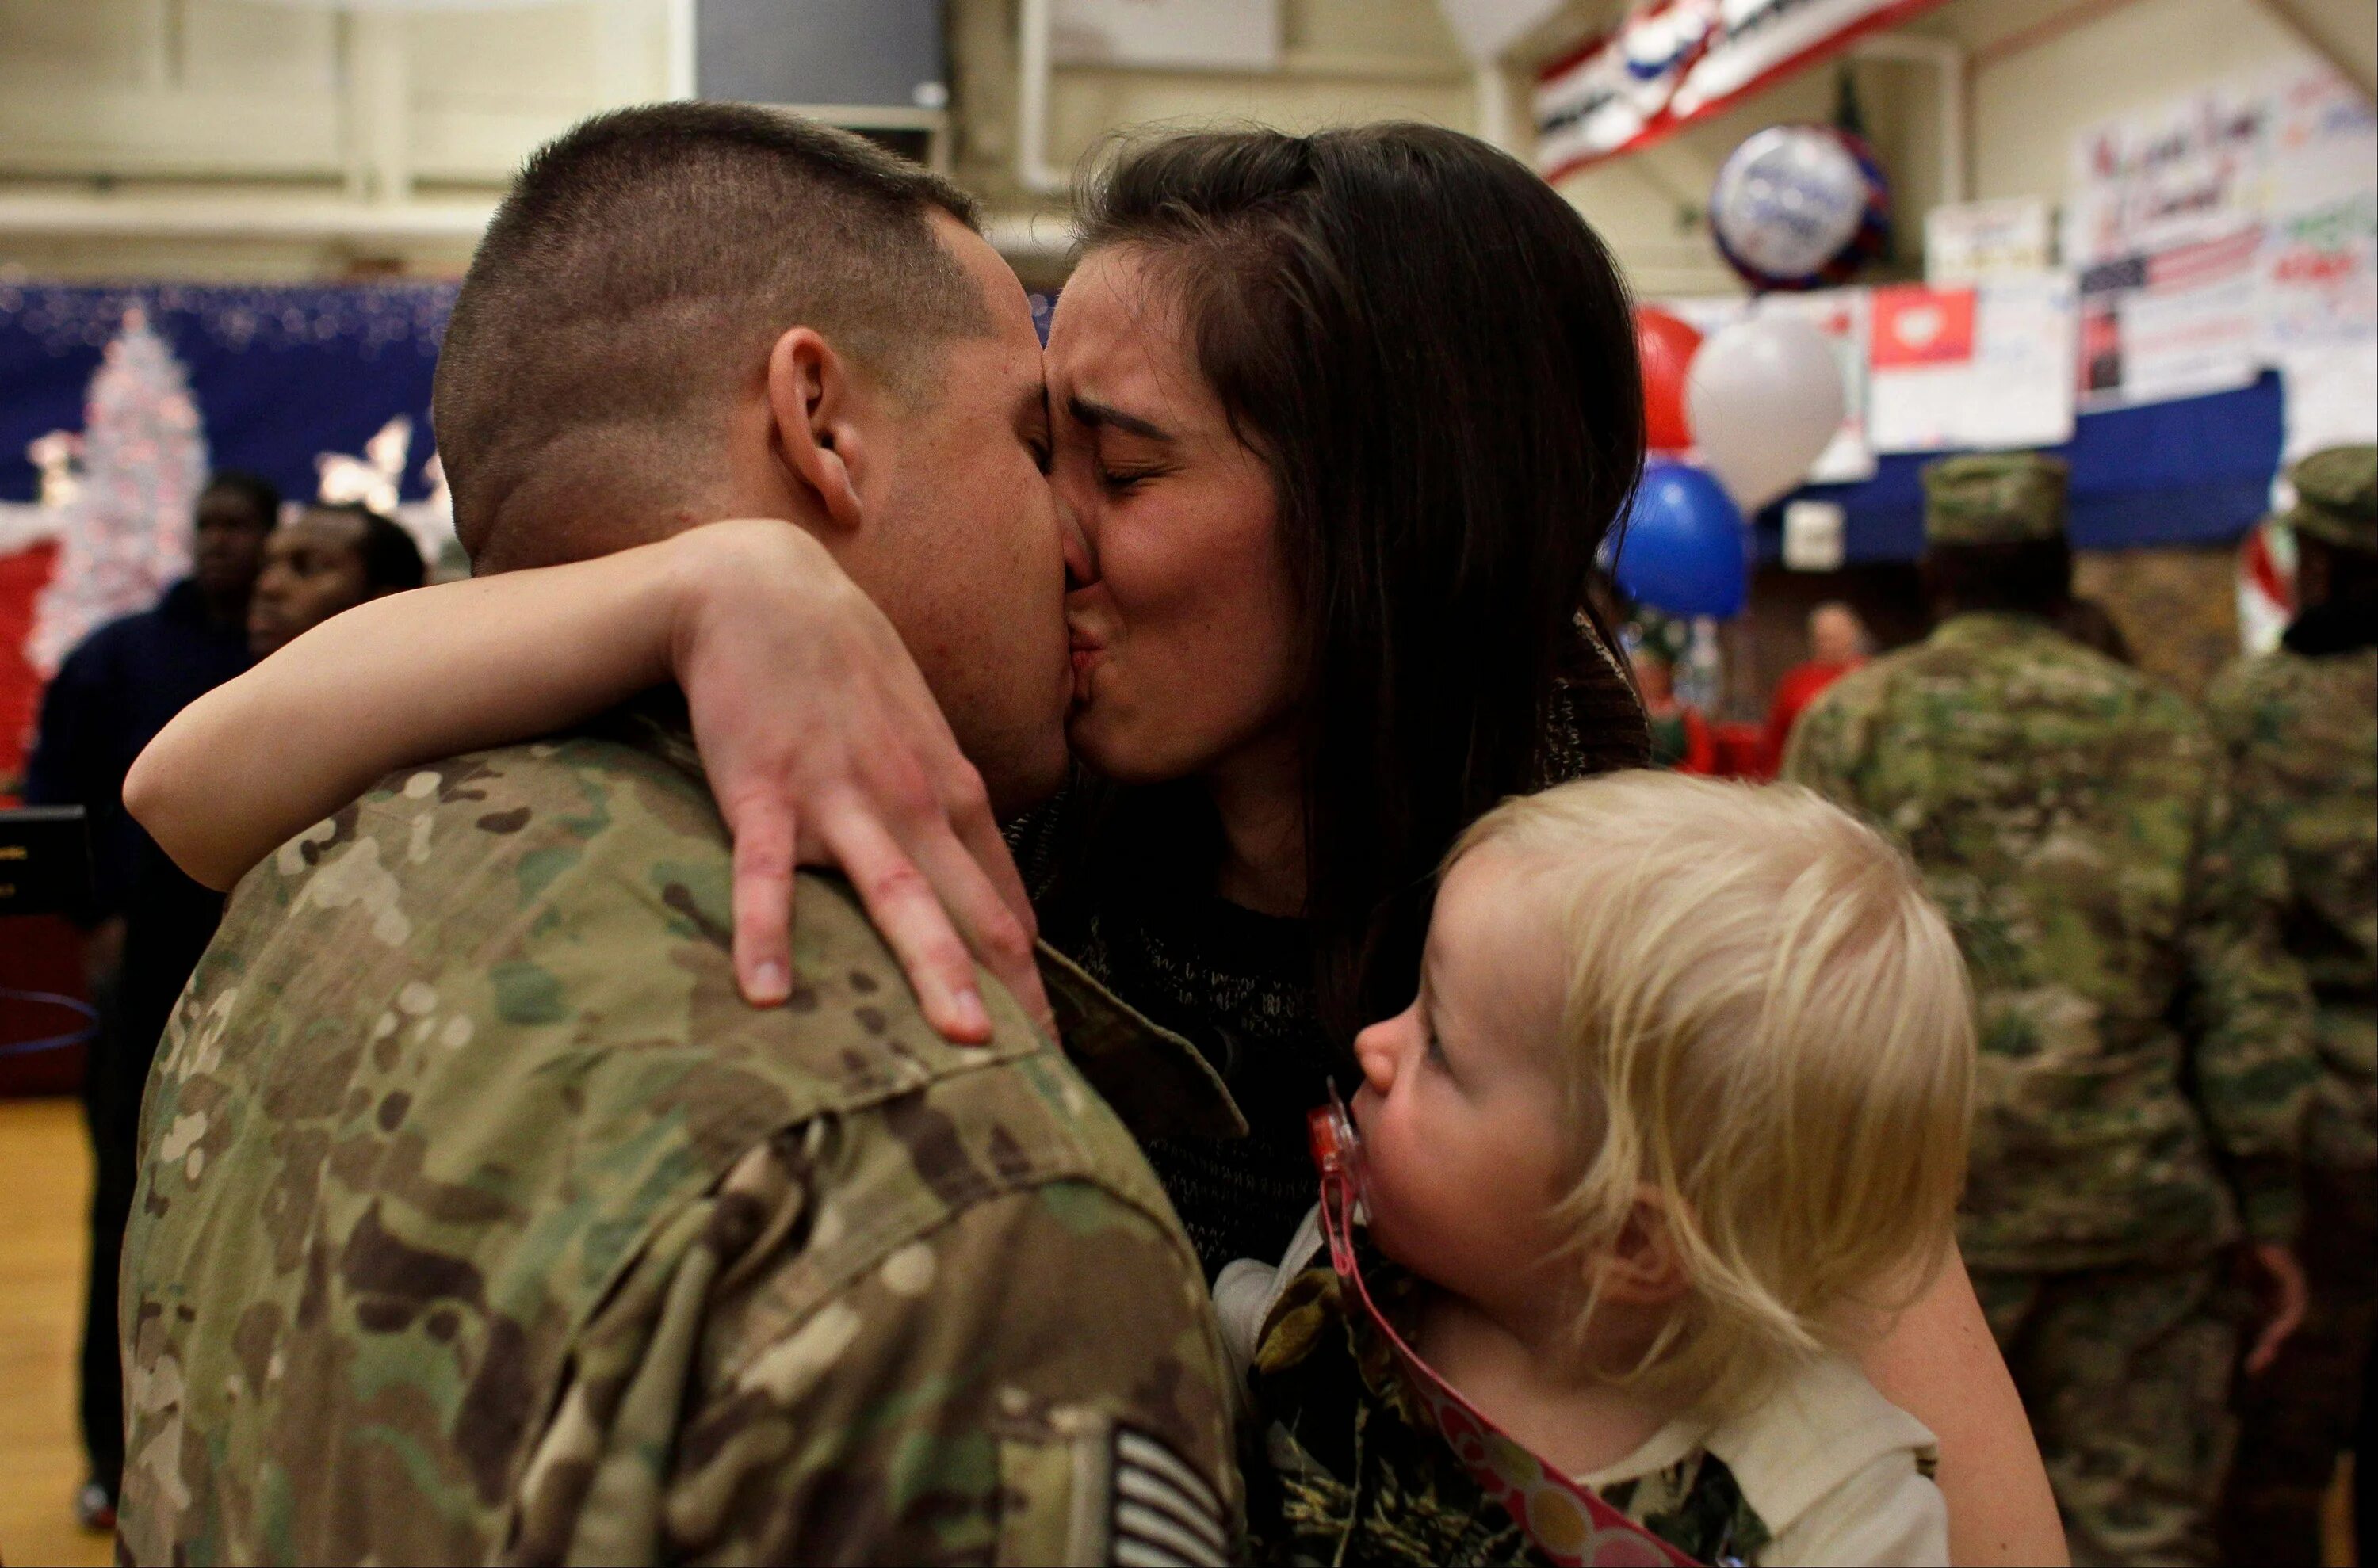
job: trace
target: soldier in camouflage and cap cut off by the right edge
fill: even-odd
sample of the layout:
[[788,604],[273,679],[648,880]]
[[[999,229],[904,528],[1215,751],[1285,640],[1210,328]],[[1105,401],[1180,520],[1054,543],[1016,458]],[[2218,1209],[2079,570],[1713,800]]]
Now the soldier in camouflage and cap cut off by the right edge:
[[2311,1311],[2238,1390],[2223,1547],[2319,1563],[2321,1497],[2354,1442],[2378,1328],[2378,449],[2295,466],[2302,613],[2207,696],[2238,815],[2281,846],[2288,948],[2316,1003],[2321,1086],[2304,1169]]

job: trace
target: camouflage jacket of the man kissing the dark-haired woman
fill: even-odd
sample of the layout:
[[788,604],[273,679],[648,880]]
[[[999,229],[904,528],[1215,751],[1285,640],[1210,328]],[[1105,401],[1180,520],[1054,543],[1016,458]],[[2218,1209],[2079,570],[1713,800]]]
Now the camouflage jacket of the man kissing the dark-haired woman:
[[1232,1133],[1220,1083],[1061,960],[1070,1057],[987,976],[949,1045],[820,877],[751,1010],[728,855],[623,715],[240,884],[143,1114],[131,1561],[1225,1558],[1227,1371],[1125,1131]]

